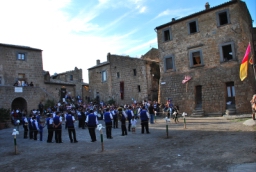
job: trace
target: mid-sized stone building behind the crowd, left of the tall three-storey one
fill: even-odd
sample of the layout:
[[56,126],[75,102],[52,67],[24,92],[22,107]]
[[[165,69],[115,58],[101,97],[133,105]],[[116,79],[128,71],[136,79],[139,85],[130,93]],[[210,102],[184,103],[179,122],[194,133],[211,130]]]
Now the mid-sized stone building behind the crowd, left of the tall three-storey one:
[[159,53],[152,48],[141,58],[108,53],[107,61],[96,62],[88,69],[92,100],[116,104],[157,100],[159,87]]

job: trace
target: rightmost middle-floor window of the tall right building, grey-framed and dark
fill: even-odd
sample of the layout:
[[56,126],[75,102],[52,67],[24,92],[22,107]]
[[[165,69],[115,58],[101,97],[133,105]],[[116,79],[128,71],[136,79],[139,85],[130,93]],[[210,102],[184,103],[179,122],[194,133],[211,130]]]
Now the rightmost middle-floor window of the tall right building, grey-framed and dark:
[[235,60],[235,48],[233,42],[228,42],[220,45],[220,61],[226,62]]

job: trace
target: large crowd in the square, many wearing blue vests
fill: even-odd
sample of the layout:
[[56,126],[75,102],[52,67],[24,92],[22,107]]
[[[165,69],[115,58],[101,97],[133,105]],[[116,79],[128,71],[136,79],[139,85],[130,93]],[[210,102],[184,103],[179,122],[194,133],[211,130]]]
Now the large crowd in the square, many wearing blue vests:
[[112,128],[120,127],[121,136],[128,135],[128,132],[135,133],[138,120],[141,124],[141,133],[150,134],[149,123],[154,124],[155,117],[161,113],[167,118],[171,118],[171,115],[173,115],[175,123],[179,122],[179,107],[173,105],[171,101],[161,105],[156,101],[143,101],[142,103],[125,104],[123,106],[109,105],[102,102],[99,104],[59,102],[54,107],[47,109],[44,109],[40,102],[38,109],[31,110],[29,116],[26,112],[16,109],[12,111],[12,117],[14,125],[17,125],[15,116],[17,114],[22,115],[21,124],[24,128],[24,139],[43,141],[43,131],[46,128],[47,143],[53,143],[54,141],[55,143],[62,143],[62,129],[65,128],[68,130],[70,142],[77,143],[76,128],[88,128],[91,142],[96,141],[95,130],[99,120],[103,120],[105,124],[107,139],[113,139]]

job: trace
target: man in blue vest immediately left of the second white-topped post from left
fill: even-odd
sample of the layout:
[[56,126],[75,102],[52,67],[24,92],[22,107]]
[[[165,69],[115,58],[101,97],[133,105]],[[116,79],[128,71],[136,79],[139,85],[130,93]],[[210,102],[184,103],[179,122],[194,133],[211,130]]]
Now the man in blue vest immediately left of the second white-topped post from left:
[[94,114],[93,110],[89,111],[89,114],[86,116],[85,122],[87,123],[89,134],[91,136],[91,142],[96,142],[96,133],[95,129],[98,125],[97,116]]

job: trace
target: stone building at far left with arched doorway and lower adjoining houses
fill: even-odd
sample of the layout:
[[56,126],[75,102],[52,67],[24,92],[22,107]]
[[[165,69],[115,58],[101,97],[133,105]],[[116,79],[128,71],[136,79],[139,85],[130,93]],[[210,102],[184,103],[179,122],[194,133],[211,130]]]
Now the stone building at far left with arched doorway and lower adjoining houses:
[[[71,75],[73,81],[68,80]],[[31,82],[33,86],[27,86]],[[75,68],[51,78],[49,72],[43,70],[42,50],[0,44],[0,108],[19,108],[29,112],[37,109],[39,102],[54,100],[57,103],[61,100],[63,88],[74,96],[88,94],[89,91],[83,91],[84,87],[88,84],[82,81],[81,69]]]

